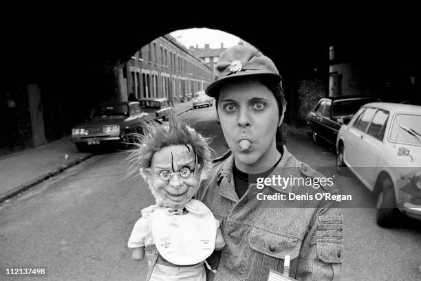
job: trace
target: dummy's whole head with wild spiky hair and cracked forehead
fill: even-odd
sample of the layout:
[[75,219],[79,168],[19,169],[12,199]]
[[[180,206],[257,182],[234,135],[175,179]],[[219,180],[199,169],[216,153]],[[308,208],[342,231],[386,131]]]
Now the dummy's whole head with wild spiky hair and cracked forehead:
[[183,207],[196,194],[200,173],[210,163],[209,140],[174,115],[164,124],[144,124],[143,132],[129,156],[132,170],[140,170],[156,203]]

